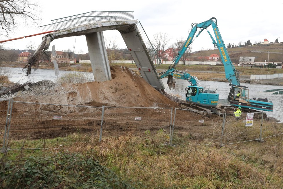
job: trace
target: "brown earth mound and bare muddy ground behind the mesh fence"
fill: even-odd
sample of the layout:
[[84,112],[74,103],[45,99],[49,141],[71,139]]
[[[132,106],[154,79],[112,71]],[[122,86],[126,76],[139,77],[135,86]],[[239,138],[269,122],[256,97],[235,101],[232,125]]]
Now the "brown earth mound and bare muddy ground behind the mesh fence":
[[[173,122],[174,130],[188,137],[219,139],[221,136],[222,117],[208,118],[178,110],[174,121],[175,107],[179,107],[176,101],[126,67],[111,67],[111,75],[111,81],[82,84],[55,85],[45,80],[30,85],[28,90],[5,95],[7,100],[14,100],[10,139],[67,137],[75,132],[98,136],[101,127],[102,136],[146,135],[148,131],[169,134]],[[2,136],[7,104],[8,101],[0,102]],[[104,109],[103,122],[102,106],[112,107]],[[54,119],[54,116],[62,116],[62,119]],[[234,116],[230,119],[235,121]]]

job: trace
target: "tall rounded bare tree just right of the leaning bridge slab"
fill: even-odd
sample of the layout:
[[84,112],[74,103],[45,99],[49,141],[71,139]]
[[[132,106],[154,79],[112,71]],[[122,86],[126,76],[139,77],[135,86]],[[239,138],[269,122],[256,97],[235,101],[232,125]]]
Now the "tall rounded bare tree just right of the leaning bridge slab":
[[160,60],[163,59],[164,49],[167,47],[170,40],[171,38],[168,37],[168,34],[166,33],[159,32],[153,35],[152,45]]

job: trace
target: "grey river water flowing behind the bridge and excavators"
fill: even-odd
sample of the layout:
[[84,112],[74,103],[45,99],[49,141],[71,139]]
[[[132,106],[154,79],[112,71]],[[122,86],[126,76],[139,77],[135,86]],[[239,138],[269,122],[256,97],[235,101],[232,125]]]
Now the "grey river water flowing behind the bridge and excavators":
[[[22,68],[1,68],[4,69],[5,72],[8,73],[9,80],[12,82],[18,83],[26,83],[30,82],[37,82],[42,80],[51,80],[56,82],[57,76],[55,76],[54,70],[32,70],[32,74],[30,78],[25,76],[25,72],[22,71]],[[65,73],[74,73],[74,71],[62,71],[60,70],[60,74],[58,77],[62,76]],[[82,72],[80,72],[82,73]],[[83,72],[86,74],[90,74],[92,79],[93,75],[89,72]],[[204,73],[205,74],[205,73]],[[161,79],[164,86],[165,91],[170,95],[177,95],[182,99],[185,99],[185,88],[188,86],[188,81],[182,79],[176,79],[176,86],[175,89],[169,90],[167,85],[167,78]],[[230,86],[228,82],[218,82],[218,81],[200,81],[201,86],[208,87],[210,86],[211,90],[217,89],[217,93],[219,93],[220,99],[227,99],[230,91]],[[259,84],[249,84],[243,83],[242,85],[247,86],[250,94],[249,98],[252,99],[253,97],[257,98],[266,98],[269,101],[272,101],[274,104],[274,110],[282,110],[283,109],[283,95],[272,95],[272,92],[263,92],[269,89],[282,89],[283,86],[272,86],[272,85],[259,85]]]

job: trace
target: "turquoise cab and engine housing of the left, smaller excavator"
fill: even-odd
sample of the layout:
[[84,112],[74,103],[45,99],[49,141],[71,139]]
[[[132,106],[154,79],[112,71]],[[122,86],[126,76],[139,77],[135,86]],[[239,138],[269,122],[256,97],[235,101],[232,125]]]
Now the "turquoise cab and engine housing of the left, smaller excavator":
[[188,86],[186,90],[186,101],[206,107],[215,107],[218,103],[219,94],[204,92],[203,87]]

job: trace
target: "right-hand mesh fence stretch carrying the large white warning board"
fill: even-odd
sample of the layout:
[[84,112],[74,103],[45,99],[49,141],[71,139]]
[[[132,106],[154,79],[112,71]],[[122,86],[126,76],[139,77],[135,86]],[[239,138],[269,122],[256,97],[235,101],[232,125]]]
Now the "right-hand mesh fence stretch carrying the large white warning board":
[[235,117],[233,112],[231,114],[212,112],[210,117],[207,117],[201,111],[176,108],[172,133],[171,143],[178,142],[178,135],[219,143],[221,146],[248,141],[263,142],[268,137],[280,135],[282,137],[283,110],[242,112],[240,117]]

